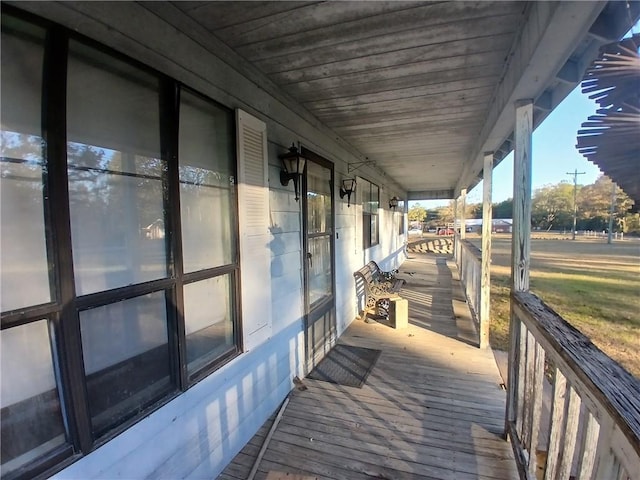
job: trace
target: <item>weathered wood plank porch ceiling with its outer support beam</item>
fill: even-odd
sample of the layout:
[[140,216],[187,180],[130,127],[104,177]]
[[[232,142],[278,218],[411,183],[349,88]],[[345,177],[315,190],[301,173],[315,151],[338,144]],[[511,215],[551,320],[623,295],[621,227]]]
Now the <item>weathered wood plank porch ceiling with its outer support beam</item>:
[[610,12],[594,30],[613,9],[606,2],[174,6],[410,199],[452,198],[475,185],[483,152],[500,161],[511,150],[513,101],[535,100],[538,124],[579,83],[601,42],[620,35]]

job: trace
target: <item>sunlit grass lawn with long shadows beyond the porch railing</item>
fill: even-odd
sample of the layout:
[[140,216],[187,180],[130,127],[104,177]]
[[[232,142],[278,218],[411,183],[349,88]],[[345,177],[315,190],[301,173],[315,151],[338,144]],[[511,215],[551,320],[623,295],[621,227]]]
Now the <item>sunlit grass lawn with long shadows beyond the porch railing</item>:
[[[480,247],[480,237],[467,239]],[[491,346],[508,350],[511,236],[494,234]],[[640,242],[532,235],[531,291],[640,378]]]

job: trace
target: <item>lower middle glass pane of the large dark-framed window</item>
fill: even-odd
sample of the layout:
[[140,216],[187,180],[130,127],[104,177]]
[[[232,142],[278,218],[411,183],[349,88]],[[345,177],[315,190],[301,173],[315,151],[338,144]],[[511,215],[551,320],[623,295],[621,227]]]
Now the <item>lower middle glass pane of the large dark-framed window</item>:
[[164,292],[82,311],[80,328],[97,436],[172,390]]

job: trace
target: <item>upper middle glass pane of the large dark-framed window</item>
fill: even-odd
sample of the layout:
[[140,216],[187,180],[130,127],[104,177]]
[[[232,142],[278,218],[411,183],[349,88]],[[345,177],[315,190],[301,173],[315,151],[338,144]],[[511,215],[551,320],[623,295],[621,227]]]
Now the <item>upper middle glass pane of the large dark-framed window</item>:
[[153,75],[70,43],[67,157],[79,295],[167,275],[158,89]]

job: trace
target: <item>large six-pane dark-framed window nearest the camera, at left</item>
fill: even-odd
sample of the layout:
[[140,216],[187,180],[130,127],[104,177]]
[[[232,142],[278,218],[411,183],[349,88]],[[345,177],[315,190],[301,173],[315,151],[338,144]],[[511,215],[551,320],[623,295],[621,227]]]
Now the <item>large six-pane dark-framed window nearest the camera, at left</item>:
[[1,46],[0,473],[31,478],[240,351],[234,117],[5,12]]

